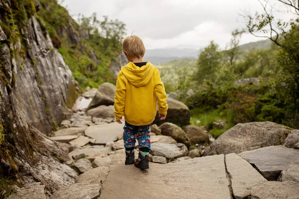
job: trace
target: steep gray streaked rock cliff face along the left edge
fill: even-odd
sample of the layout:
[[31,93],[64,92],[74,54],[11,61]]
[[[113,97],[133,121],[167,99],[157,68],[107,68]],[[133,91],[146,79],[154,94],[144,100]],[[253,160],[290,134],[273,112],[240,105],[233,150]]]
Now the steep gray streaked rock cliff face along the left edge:
[[[45,178],[54,168],[69,182],[76,175],[60,169],[58,160],[68,157],[39,132],[55,130],[77,93],[71,71],[34,13],[32,0],[0,0],[0,192],[6,190],[4,194],[12,182],[36,180],[55,191],[58,181]],[[42,174],[32,169],[37,166],[53,170]]]

